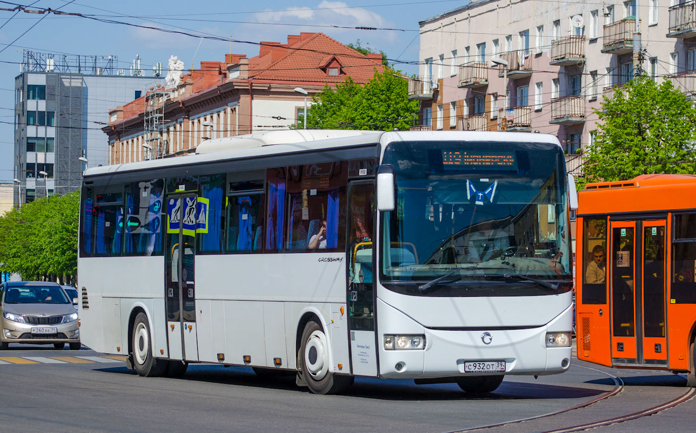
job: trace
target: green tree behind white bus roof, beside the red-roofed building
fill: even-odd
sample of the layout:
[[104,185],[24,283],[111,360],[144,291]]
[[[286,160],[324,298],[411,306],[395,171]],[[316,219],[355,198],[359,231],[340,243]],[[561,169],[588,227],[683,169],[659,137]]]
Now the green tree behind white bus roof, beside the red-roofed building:
[[[324,86],[313,97],[310,129],[407,130],[418,118],[418,102],[409,100],[409,83],[400,72],[385,68],[362,86],[351,77],[335,89]],[[297,124],[302,125],[303,116]]]

